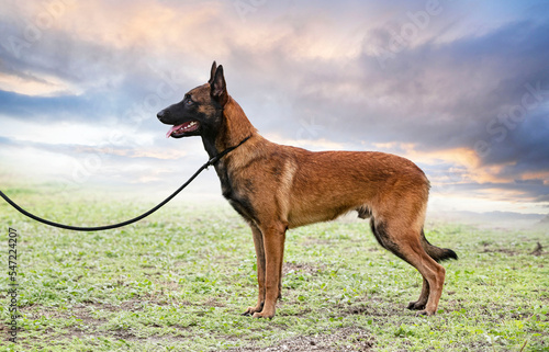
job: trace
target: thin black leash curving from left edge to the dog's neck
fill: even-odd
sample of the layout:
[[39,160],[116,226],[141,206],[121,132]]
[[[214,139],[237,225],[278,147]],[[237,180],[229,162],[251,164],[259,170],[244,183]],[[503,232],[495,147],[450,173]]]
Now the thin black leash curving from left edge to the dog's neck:
[[228,147],[227,149],[223,150],[219,155],[216,155],[213,158],[211,158],[210,160],[208,160],[208,162],[204,163],[202,167],[200,167],[200,169],[197,172],[194,172],[194,174],[189,180],[187,180],[187,182],[183,183],[176,192],[173,192],[170,196],[168,196],[166,200],[164,200],[161,203],[159,203],[157,206],[155,206],[150,211],[148,211],[148,212],[146,212],[146,213],[144,213],[144,214],[137,216],[137,217],[134,217],[133,219],[130,219],[130,220],[126,220],[126,222],[123,222],[123,223],[119,223],[119,224],[107,225],[107,226],[96,226],[96,227],[80,227],[80,226],[70,226],[70,225],[58,224],[58,223],[54,223],[54,222],[51,222],[51,220],[43,219],[43,218],[41,218],[41,217],[38,217],[38,216],[34,215],[34,214],[31,214],[31,213],[26,212],[21,206],[19,206],[18,204],[15,204],[12,200],[10,200],[2,191],[0,191],[0,196],[2,196],[2,198],[4,198],[5,202],[8,202],[11,206],[13,206],[21,214],[23,214],[23,215],[25,215],[25,216],[27,216],[27,217],[36,220],[36,222],[40,222],[40,223],[43,223],[43,224],[46,224],[46,225],[49,225],[49,226],[59,227],[59,228],[64,228],[64,229],[67,229],[67,230],[72,230],[72,231],[103,231],[103,230],[110,230],[110,229],[113,229],[113,228],[117,228],[117,227],[122,227],[122,226],[126,226],[126,225],[136,223],[136,222],[138,222],[138,220],[141,220],[141,219],[143,219],[143,218],[145,218],[147,216],[149,216],[150,214],[155,213],[156,211],[158,211],[159,208],[161,208],[164,205],[166,205],[166,203],[168,203],[169,201],[171,201],[176,195],[178,195],[178,193],[181,192],[186,186],[188,186],[202,171],[204,171],[209,167],[215,164],[217,161],[221,160],[221,158],[223,158],[224,156],[226,156],[231,151],[233,151],[236,148],[238,148],[239,146],[242,146],[250,137],[251,136],[248,136],[248,137],[244,138],[238,145],[233,146],[233,147]]

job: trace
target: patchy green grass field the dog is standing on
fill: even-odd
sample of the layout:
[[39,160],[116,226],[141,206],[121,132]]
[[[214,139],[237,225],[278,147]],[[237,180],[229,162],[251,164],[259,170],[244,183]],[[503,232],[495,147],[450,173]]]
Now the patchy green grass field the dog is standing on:
[[[153,205],[47,190],[3,191],[74,225]],[[429,241],[460,258],[445,263],[429,318],[405,309],[419,274],[381,249],[367,222],[294,229],[283,299],[274,319],[259,320],[240,316],[256,302],[256,264],[250,231],[228,206],[168,204],[123,229],[71,232],[0,203],[0,351],[549,351],[547,229],[428,223]],[[19,234],[16,344],[8,341],[9,227]]]

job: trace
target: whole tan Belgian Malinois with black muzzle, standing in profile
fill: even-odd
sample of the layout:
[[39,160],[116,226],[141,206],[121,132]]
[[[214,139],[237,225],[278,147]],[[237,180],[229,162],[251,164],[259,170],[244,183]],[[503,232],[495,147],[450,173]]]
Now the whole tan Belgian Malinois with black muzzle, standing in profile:
[[223,195],[254,236],[259,296],[245,315],[274,316],[288,229],[351,211],[370,218],[379,243],[422,274],[419,299],[407,308],[428,316],[437,311],[446,273],[438,262],[457,256],[425,239],[429,181],[412,161],[374,151],[313,152],[265,139],[228,95],[223,66],[215,61],[208,83],[157,117],[172,125],[167,137],[201,136],[212,158],[238,146],[215,171]]

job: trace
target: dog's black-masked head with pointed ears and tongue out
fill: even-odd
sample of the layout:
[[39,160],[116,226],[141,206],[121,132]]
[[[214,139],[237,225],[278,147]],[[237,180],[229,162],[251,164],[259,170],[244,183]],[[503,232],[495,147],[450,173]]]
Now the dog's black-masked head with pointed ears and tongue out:
[[172,125],[166,137],[215,135],[219,130],[223,107],[228,101],[223,66],[213,61],[208,83],[184,94],[183,100],[160,111],[156,116],[167,125]]

